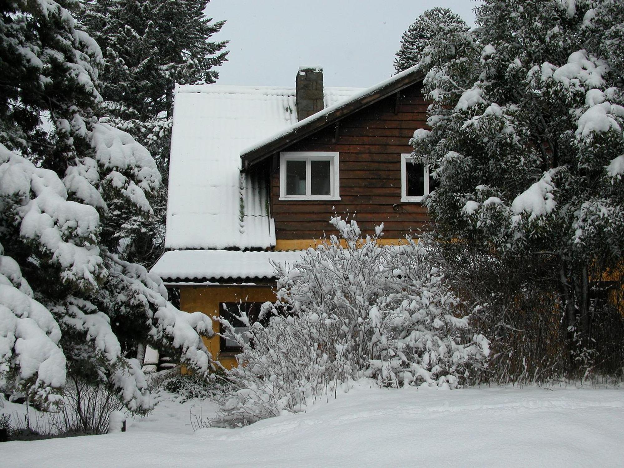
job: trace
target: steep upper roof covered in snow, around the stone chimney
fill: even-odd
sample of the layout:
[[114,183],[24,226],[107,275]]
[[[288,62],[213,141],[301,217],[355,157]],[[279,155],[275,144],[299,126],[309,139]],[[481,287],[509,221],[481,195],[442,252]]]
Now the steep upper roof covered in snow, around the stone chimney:
[[[331,107],[358,88],[326,87]],[[175,90],[165,245],[269,248],[264,180],[240,173],[240,152],[297,122],[295,88],[186,85]]]

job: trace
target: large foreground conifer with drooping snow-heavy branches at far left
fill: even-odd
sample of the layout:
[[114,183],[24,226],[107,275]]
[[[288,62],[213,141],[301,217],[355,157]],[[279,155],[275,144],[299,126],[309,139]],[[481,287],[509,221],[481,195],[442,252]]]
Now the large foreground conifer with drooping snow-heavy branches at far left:
[[111,207],[149,216],[161,180],[144,147],[94,115],[102,54],[74,27],[77,7],[0,7],[0,387],[46,403],[71,374],[146,411],[128,347],[177,348],[206,371],[198,333],[212,323],[173,308],[160,278],[117,255]]

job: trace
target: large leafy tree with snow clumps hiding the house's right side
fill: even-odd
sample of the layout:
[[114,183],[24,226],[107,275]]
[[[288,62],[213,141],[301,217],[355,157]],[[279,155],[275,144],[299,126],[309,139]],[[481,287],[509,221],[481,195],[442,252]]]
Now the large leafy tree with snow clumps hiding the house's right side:
[[477,24],[452,59],[444,35],[424,52],[427,207],[449,237],[555,265],[568,338],[592,346],[590,281],[624,251],[624,3],[485,0]]

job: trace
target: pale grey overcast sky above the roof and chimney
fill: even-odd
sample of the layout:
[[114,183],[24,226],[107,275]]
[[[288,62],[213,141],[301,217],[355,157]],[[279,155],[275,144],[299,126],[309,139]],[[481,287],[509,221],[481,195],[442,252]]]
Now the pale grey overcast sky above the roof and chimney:
[[369,87],[394,73],[401,34],[434,6],[474,26],[475,0],[211,0],[229,39],[218,84],[294,86],[300,65],[323,67],[329,86]]

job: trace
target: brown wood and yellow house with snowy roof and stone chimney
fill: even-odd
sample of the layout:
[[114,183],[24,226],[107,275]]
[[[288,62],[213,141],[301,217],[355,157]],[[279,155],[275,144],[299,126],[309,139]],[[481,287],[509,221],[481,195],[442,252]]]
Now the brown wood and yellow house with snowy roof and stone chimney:
[[[274,300],[271,262],[334,233],[334,213],[363,233],[384,223],[384,242],[416,235],[432,187],[409,139],[426,110],[416,69],[368,89],[324,87],[319,67],[301,67],[295,88],[177,87],[168,251],[151,271],[179,288],[182,310],[229,317]],[[225,366],[232,344],[207,341]]]

